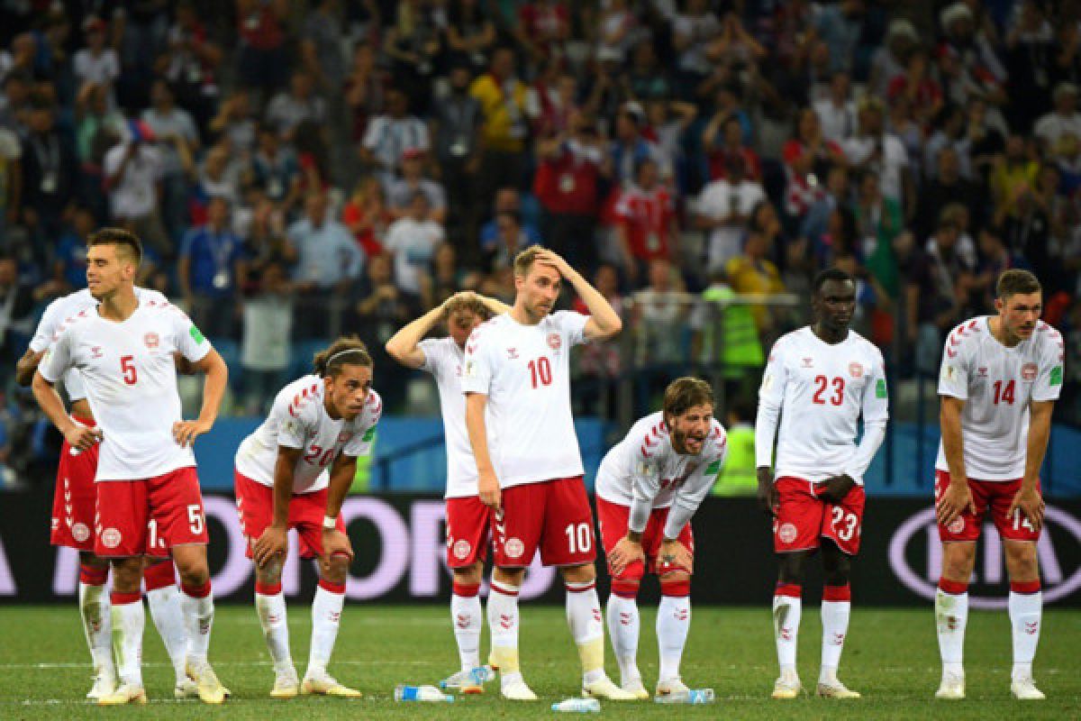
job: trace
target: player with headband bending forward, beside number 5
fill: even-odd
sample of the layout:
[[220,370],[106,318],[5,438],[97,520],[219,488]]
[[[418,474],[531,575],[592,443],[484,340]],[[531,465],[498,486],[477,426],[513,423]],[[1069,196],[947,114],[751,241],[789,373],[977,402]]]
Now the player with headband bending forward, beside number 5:
[[[342,488],[344,495],[352,483],[357,457],[371,451],[382,411],[383,401],[372,390],[368,349],[356,336],[338,338],[316,353],[311,374],[279,391],[267,419],[237,449],[237,511],[248,556],[255,561],[255,611],[273,659],[275,698],[292,698],[297,692],[361,695],[326,671],[352,560],[345,523],[337,512],[326,512],[326,498],[330,485]],[[319,558],[303,684],[289,651],[281,592],[290,529],[301,536],[301,556]]]

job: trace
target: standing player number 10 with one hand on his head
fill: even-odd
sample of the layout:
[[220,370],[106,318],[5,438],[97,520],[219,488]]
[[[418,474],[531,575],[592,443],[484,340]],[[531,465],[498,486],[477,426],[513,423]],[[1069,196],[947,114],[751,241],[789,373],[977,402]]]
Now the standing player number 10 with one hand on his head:
[[[571,347],[610,338],[623,323],[604,296],[550,251],[522,251],[513,272],[513,306],[472,332],[462,373],[480,499],[493,511],[492,666],[499,669],[505,698],[536,699],[518,663],[518,591],[539,549],[540,561],[559,566],[566,585],[583,694],[632,699],[604,673],[593,518],[582,482],[570,384]],[[564,278],[591,316],[551,313]]]

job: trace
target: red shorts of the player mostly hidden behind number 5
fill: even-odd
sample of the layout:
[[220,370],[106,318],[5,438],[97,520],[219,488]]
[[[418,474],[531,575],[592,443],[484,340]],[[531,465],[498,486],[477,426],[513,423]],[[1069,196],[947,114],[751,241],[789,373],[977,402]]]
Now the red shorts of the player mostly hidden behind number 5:
[[[84,426],[94,427],[94,422],[71,416]],[[53,520],[49,542],[53,546],[67,546],[81,551],[94,550],[94,507],[97,505],[97,489],[94,476],[97,473],[98,445],[71,455],[67,441],[61,445],[61,459],[56,466],[56,490],[53,492]]]

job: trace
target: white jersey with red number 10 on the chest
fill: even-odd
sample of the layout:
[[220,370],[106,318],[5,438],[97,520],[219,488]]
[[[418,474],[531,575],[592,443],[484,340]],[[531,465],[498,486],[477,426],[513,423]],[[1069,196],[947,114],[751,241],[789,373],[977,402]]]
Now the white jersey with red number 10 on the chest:
[[466,343],[462,391],[488,396],[488,446],[502,488],[582,476],[571,416],[571,347],[589,317],[570,310],[522,325],[503,313]]

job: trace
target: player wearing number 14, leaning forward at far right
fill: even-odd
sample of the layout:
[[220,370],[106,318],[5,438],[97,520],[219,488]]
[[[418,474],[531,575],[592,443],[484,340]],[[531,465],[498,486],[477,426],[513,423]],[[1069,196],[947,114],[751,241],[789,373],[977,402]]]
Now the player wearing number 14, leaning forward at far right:
[[1043,599],[1036,542],[1043,525],[1040,466],[1063,388],[1063,336],[1040,320],[1043,291],[1027,270],[1003,272],[997,316],[958,325],[938,377],[942,443],[935,509],[943,545],[935,623],[943,659],[938,698],[964,698],[964,626],[976,539],[990,510],[1010,574],[1010,692],[1041,699],[1032,682]]

